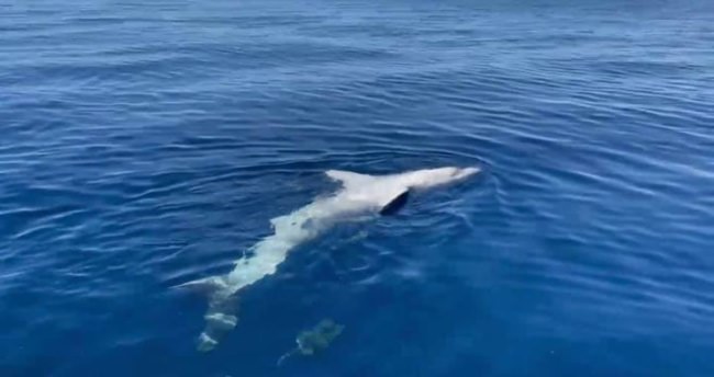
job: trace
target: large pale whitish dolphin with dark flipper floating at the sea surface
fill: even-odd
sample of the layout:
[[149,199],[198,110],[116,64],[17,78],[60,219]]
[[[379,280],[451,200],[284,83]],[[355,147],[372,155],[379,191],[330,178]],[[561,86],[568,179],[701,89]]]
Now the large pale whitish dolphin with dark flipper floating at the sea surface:
[[237,293],[272,275],[295,247],[315,239],[341,221],[369,219],[369,215],[391,215],[404,206],[411,192],[445,186],[478,172],[476,167],[446,167],[388,175],[326,171],[328,178],[341,184],[339,190],[271,219],[272,235],[256,242],[249,253],[235,261],[227,274],[178,286],[204,292],[209,297],[205,328],[199,336],[198,350],[205,352],[217,345],[237,323]]

